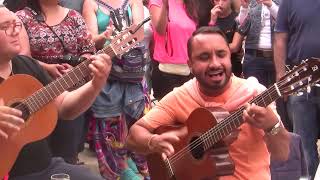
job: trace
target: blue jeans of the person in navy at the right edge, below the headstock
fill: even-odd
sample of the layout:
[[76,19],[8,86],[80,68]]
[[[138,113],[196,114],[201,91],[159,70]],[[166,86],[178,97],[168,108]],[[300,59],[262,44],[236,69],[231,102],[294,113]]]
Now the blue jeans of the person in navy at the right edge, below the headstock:
[[313,177],[319,164],[316,143],[320,129],[320,88],[313,87],[309,94],[289,96],[287,109],[293,132],[301,136],[309,175]]

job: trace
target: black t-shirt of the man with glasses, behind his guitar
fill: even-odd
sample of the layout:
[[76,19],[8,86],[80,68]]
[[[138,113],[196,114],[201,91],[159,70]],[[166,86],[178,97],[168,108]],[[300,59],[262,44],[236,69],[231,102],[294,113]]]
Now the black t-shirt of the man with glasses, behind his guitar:
[[[36,60],[27,56],[17,56],[12,59],[13,74],[28,74],[38,79],[44,86],[51,82],[49,74],[43,70]],[[47,168],[51,161],[51,152],[47,138],[29,143],[20,151],[9,175],[22,176],[39,172]]]

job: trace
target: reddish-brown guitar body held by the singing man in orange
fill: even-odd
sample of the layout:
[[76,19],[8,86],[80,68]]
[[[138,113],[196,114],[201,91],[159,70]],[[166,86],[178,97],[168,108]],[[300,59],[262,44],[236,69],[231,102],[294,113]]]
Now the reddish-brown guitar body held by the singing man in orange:
[[[210,128],[216,125],[215,117],[211,112],[204,108],[198,108],[191,113],[186,126],[188,129],[188,135],[181,138],[179,143],[174,144],[175,153],[179,152],[183,148],[187,147],[189,150],[190,142],[194,141],[201,134],[208,131]],[[168,131],[168,128],[159,128],[156,130],[157,134],[162,134]],[[219,148],[219,147],[218,147]],[[197,148],[196,148],[197,149]],[[222,148],[226,149],[226,148]],[[221,152],[221,151],[220,151]],[[225,151],[224,151],[225,153]],[[203,180],[203,179],[217,179],[219,176],[216,173],[216,155],[213,154],[213,150],[209,149],[208,152],[203,152],[203,149],[197,149],[195,151],[188,151],[184,156],[179,156],[179,160],[171,162],[173,176],[170,174],[170,168],[168,164],[162,160],[162,157],[158,153],[153,153],[147,156],[148,167],[150,177],[152,180]],[[223,164],[223,163],[222,163]],[[231,165],[232,166],[232,165]],[[231,174],[233,173],[234,166],[231,167]],[[229,170],[227,170],[229,171]],[[220,174],[228,174],[219,172]]]

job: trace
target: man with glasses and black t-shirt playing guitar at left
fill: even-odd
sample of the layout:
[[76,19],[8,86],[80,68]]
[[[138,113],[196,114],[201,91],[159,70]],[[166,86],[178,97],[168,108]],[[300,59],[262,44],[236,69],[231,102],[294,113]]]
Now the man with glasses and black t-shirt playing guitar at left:
[[[21,48],[19,34],[24,29],[18,18],[3,5],[0,5],[0,17],[0,82],[13,74],[28,74],[43,85],[50,83],[50,76],[37,61],[17,56]],[[62,119],[74,119],[84,112],[106,82],[111,67],[110,57],[101,54],[91,56],[90,59],[92,62],[89,69],[93,79],[77,90],[62,93],[54,100]],[[1,96],[3,95],[0,94],[0,142],[4,142],[14,133],[19,133],[24,120],[22,112],[5,106]],[[25,145],[8,172],[10,180],[50,179],[52,174],[57,173],[67,173],[71,179],[76,180],[102,179],[84,167],[67,164],[61,158],[52,158],[47,138]]]

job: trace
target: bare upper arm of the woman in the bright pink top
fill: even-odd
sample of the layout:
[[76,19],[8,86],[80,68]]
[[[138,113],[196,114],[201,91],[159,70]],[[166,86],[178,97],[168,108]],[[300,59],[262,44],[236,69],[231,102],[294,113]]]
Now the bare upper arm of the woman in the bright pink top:
[[163,0],[163,5],[150,7],[151,23],[160,35],[165,35],[168,24],[168,0]]

